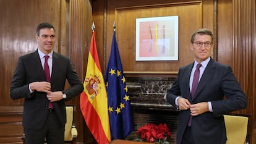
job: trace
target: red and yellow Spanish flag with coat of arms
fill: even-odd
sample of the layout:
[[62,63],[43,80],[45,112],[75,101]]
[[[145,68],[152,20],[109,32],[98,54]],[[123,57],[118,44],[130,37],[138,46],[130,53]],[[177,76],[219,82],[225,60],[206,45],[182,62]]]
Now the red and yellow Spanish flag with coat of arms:
[[99,144],[111,141],[108,96],[101,72],[98,51],[95,43],[95,32],[92,32],[87,72],[83,82],[84,90],[80,95],[80,109],[88,129]]

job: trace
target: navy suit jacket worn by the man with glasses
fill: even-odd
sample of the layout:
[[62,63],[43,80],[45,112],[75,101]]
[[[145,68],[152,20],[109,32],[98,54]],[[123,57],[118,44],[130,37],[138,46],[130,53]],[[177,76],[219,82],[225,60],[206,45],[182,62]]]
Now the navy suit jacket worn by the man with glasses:
[[[247,99],[234,77],[231,67],[224,66],[210,59],[198,83],[195,95],[191,98],[189,78],[194,63],[181,67],[176,81],[167,93],[167,100],[176,106],[175,99],[182,96],[191,104],[210,101],[213,112],[205,112],[192,117],[191,131],[195,144],[226,143],[226,128],[223,114],[244,109]],[[223,100],[224,95],[226,99]],[[182,142],[184,131],[190,117],[190,110],[181,111],[177,127],[177,143]]]

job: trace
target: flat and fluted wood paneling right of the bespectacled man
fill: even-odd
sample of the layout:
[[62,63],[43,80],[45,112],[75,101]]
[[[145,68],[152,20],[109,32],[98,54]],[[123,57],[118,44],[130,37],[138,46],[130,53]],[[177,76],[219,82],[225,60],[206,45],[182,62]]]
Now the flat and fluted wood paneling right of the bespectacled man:
[[247,109],[255,116],[255,1],[218,0],[218,61],[233,68],[247,95]]

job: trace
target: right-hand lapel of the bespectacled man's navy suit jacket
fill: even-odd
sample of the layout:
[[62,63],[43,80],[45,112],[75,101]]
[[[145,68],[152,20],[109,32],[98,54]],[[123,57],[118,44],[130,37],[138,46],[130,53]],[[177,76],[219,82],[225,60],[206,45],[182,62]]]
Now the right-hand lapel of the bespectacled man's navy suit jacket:
[[193,100],[197,97],[198,93],[200,93],[203,87],[205,87],[205,85],[210,82],[211,77],[215,73],[215,67],[215,62],[213,61],[213,59],[211,59],[207,64],[205,71],[203,72],[200,82],[198,83],[197,90],[195,91],[195,95],[193,96]]

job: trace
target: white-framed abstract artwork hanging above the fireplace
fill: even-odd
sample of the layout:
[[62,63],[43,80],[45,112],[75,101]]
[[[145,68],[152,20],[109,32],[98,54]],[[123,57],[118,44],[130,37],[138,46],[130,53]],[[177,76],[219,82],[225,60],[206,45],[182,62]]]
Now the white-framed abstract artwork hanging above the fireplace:
[[136,19],[136,61],[178,61],[179,17]]

